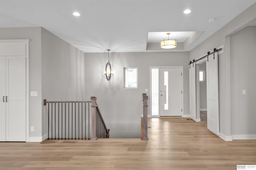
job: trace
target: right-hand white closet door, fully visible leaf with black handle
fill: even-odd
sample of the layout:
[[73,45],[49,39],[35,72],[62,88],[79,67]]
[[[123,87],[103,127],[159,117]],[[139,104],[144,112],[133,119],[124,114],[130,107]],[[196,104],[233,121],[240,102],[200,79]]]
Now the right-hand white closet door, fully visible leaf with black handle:
[[26,61],[6,57],[6,141],[26,141]]

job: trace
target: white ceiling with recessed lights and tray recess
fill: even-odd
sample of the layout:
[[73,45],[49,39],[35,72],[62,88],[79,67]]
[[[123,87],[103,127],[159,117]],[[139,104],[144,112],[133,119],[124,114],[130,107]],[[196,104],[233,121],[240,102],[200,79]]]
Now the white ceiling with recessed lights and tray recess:
[[[44,27],[84,52],[150,51],[167,32],[196,39],[190,51],[256,0],[0,0],[0,27]],[[190,14],[183,11],[190,9]],[[73,16],[79,12],[79,17]],[[209,19],[215,22],[209,22]],[[164,32],[148,40],[149,32]],[[187,37],[186,37],[187,36]],[[175,37],[174,37],[175,38]],[[148,46],[148,47],[147,47]],[[159,42],[160,46],[160,42]],[[154,51],[166,51],[160,48]],[[175,51],[175,49],[170,50]]]

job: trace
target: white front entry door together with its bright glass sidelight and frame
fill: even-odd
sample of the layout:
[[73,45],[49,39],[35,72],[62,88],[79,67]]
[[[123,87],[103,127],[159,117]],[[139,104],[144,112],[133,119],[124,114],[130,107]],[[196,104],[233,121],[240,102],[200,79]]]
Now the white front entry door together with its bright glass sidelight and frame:
[[150,67],[152,117],[183,116],[183,67]]

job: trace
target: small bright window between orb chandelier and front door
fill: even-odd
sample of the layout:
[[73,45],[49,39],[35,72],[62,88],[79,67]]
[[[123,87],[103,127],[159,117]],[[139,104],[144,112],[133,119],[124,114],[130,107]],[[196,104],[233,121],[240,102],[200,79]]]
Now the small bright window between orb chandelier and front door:
[[124,88],[138,88],[138,68],[124,68]]

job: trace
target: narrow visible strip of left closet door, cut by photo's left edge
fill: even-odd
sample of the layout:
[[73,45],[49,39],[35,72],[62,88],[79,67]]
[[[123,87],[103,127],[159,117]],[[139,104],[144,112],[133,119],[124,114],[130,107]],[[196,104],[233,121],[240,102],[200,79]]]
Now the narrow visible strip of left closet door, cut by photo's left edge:
[[0,57],[0,141],[6,141],[5,57]]

